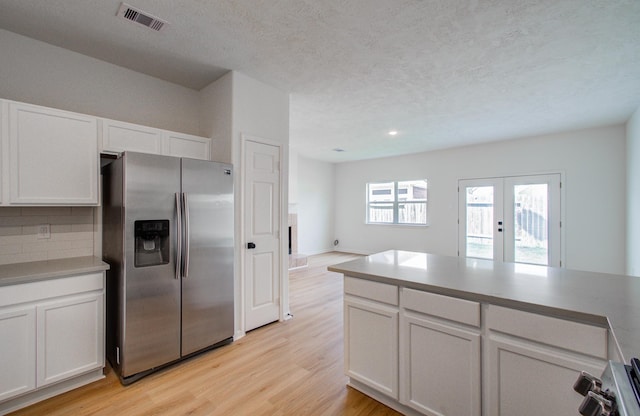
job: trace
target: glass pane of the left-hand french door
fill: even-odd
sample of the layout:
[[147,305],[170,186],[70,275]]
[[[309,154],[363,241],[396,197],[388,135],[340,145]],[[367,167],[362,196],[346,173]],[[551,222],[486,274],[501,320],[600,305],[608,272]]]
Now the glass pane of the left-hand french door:
[[467,257],[493,259],[493,186],[466,188]]

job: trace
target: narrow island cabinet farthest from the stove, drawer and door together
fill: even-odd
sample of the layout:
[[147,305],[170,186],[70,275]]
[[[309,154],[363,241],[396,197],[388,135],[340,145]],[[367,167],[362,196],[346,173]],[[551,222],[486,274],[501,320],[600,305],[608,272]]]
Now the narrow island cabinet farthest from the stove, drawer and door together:
[[398,287],[344,280],[345,372],[398,400]]

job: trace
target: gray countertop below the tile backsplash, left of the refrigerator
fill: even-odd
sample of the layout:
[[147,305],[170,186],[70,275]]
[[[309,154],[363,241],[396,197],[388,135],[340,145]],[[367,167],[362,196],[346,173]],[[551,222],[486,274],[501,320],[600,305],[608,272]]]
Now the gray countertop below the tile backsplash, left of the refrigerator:
[[0,286],[102,272],[108,269],[107,263],[93,256],[4,264],[0,265]]

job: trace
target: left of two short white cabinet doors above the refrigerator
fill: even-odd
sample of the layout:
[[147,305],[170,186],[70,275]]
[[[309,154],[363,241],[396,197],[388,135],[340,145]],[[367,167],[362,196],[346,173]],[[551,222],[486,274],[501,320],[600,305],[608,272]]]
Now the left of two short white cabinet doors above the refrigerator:
[[162,154],[162,131],[120,121],[103,120],[102,150],[159,155]]

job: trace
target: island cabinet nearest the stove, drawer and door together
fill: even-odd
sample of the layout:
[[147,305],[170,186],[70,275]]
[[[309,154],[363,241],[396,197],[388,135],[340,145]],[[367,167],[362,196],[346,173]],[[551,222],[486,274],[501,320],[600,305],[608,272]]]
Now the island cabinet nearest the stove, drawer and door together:
[[573,383],[604,370],[607,329],[495,305],[485,321],[486,414],[577,414]]

